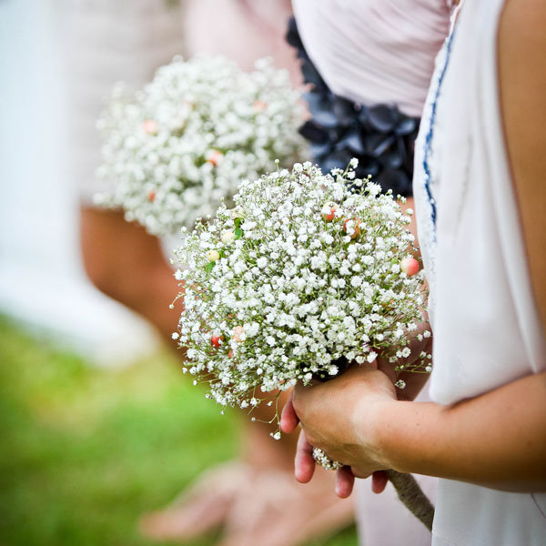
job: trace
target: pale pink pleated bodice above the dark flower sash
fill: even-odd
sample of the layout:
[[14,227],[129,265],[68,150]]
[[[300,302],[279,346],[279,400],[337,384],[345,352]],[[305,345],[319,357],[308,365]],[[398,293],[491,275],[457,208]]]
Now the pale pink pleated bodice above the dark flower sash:
[[434,56],[450,28],[446,0],[293,0],[301,39],[337,95],[420,116]]

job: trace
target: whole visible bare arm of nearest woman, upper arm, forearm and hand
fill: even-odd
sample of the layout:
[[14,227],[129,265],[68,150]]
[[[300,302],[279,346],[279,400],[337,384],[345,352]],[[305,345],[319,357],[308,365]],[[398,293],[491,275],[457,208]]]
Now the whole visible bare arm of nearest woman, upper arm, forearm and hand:
[[[531,285],[546,335],[546,5],[508,0],[498,33],[501,113],[520,210]],[[500,419],[500,416],[502,418]],[[294,389],[282,429],[301,420],[296,477],[311,479],[310,446],[347,465],[339,496],[354,476],[394,469],[468,481],[498,490],[546,490],[546,374],[518,379],[451,406],[396,399],[392,382],[371,366]],[[385,480],[374,475],[379,491]]]

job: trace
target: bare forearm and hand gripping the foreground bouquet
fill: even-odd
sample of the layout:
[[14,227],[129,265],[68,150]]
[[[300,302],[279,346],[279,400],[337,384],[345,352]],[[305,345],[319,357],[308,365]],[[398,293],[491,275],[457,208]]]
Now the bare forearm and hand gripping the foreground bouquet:
[[359,366],[328,383],[294,389],[283,415],[286,432],[297,421],[291,408],[304,429],[297,479],[311,479],[311,446],[319,447],[350,467],[339,476],[341,497],[350,494],[352,476],[386,469],[499,490],[546,490],[544,373],[446,407],[397,400],[385,373]]

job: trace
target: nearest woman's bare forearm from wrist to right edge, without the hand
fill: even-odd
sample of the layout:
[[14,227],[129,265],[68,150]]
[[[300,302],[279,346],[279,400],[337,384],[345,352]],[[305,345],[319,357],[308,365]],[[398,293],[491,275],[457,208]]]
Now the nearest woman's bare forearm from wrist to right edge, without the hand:
[[374,443],[395,470],[546,490],[544,373],[449,407],[392,401],[376,413]]

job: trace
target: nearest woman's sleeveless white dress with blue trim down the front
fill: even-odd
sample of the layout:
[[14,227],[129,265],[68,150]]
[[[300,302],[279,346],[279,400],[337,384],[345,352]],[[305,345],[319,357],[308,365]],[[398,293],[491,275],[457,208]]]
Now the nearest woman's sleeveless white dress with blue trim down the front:
[[[501,122],[496,36],[503,0],[466,2],[440,53],[416,144],[414,196],[430,281],[430,394],[451,404],[545,369]],[[445,77],[438,86],[442,67]],[[423,150],[431,136],[430,192]],[[546,544],[546,494],[440,480],[436,546]]]

